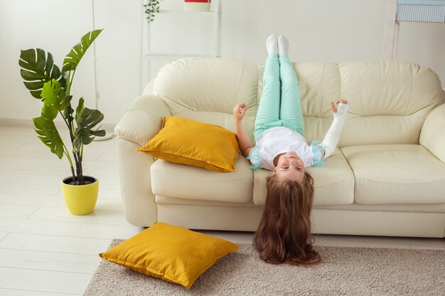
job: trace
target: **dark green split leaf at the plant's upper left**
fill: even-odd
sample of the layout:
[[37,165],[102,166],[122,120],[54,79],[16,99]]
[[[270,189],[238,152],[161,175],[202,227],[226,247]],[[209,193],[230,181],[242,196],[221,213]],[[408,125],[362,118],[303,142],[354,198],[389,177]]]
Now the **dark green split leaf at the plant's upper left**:
[[54,65],[54,58],[51,53],[48,56],[41,48],[20,51],[20,75],[25,80],[23,83],[36,99],[41,99],[43,85],[50,80],[58,80],[62,87],[65,87],[66,80],[60,69]]

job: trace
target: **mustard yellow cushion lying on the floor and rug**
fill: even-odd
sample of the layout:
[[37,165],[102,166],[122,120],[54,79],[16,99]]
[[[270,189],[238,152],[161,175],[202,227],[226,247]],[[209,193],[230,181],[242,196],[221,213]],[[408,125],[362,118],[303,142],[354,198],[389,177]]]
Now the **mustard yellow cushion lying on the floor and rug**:
[[155,223],[99,256],[131,270],[190,288],[198,276],[240,247],[181,226]]

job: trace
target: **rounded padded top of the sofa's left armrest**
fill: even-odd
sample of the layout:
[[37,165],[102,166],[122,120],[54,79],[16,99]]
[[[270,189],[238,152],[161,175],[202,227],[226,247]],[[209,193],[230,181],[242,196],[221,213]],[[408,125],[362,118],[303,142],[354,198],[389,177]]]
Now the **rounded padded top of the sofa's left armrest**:
[[137,97],[114,133],[144,146],[161,129],[163,116],[171,116],[171,112],[161,98],[150,94]]

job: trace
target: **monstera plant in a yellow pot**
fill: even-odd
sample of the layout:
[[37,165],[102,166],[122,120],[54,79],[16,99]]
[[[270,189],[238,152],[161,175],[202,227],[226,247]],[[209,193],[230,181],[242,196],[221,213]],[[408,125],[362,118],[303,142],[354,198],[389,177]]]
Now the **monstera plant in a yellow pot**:
[[[18,60],[25,87],[32,97],[43,103],[41,116],[33,118],[38,138],[59,159],[65,155],[70,163],[71,176],[62,180],[62,191],[68,209],[77,215],[94,211],[99,187],[97,177],[84,175],[84,146],[91,143],[95,136],[104,136],[105,131],[98,130],[100,126],[97,127],[104,115],[96,109],[88,109],[83,98],[79,99],[77,108],[73,109],[71,87],[77,65],[101,32],[102,30],[95,30],[85,34],[80,43],[74,45],[66,55],[62,70],[54,64],[53,55],[45,53],[41,48],[21,50]],[[58,116],[68,127],[70,150],[54,123]]]

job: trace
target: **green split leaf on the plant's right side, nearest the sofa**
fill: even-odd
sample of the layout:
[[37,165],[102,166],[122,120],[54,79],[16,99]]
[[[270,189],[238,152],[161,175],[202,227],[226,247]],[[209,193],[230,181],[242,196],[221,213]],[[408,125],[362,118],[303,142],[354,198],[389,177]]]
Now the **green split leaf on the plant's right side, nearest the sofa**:
[[103,129],[95,130],[95,126],[104,119],[104,114],[96,109],[88,109],[83,103],[83,99],[80,99],[76,110],[77,128],[75,131],[76,144],[74,146],[77,149],[80,149],[81,144],[88,145],[91,143],[95,136],[105,136]]

